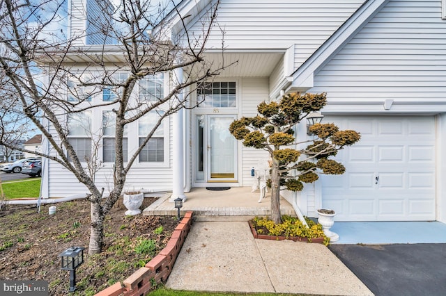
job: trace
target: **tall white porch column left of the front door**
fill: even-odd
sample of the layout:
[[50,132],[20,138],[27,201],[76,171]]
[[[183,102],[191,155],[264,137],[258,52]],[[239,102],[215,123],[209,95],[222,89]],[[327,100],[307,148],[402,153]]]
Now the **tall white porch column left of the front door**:
[[[178,83],[183,82],[183,69],[176,69],[175,76]],[[183,100],[183,92],[178,94],[178,100]],[[174,202],[174,199],[180,197],[183,202],[186,201],[186,196],[184,195],[184,133],[183,133],[183,113],[184,110],[181,109],[173,115],[174,133],[173,133],[173,188],[172,195],[169,202]]]

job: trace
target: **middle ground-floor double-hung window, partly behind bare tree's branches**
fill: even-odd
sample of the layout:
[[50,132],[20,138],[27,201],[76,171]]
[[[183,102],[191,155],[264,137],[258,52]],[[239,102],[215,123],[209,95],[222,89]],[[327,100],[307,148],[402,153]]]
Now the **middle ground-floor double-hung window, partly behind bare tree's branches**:
[[[115,142],[116,114],[109,110],[102,112],[102,160],[105,163],[112,163],[116,159]],[[124,127],[123,135],[123,161],[128,158],[127,126]]]

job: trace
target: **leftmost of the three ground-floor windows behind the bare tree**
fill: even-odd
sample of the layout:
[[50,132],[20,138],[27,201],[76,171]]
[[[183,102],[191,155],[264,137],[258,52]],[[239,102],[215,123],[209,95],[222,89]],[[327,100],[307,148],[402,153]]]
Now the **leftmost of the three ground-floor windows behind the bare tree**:
[[[79,161],[91,160],[91,111],[72,113],[68,116],[68,142]],[[70,156],[68,155],[68,159]]]

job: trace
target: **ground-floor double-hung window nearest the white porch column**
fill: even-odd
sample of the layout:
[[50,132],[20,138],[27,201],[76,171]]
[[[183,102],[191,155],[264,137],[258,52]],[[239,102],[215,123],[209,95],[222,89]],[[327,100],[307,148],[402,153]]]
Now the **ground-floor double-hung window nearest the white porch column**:
[[[139,119],[138,138],[139,146],[142,145],[146,136],[152,131],[153,127],[160,119],[160,114],[155,111],[149,112]],[[139,163],[163,163],[164,162],[164,124],[153,133],[152,137],[139,153]]]

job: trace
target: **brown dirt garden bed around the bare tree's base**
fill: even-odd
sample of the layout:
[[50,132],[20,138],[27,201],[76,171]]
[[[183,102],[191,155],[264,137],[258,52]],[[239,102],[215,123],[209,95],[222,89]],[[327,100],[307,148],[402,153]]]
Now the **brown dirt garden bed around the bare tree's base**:
[[[141,209],[156,198],[146,198]],[[0,279],[43,280],[49,295],[67,295],[69,272],[60,270],[58,255],[72,246],[85,247],[84,263],[77,269],[77,290],[72,295],[94,295],[150,261],[167,244],[176,217],[125,216],[118,201],[105,222],[105,248],[88,256],[90,204],[84,200],[51,205],[7,206],[0,211]],[[155,230],[157,229],[157,230]],[[151,243],[148,243],[151,240]]]

